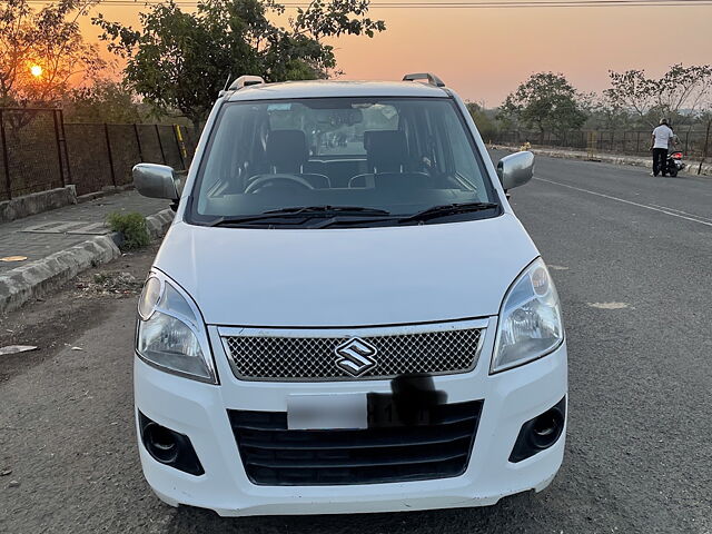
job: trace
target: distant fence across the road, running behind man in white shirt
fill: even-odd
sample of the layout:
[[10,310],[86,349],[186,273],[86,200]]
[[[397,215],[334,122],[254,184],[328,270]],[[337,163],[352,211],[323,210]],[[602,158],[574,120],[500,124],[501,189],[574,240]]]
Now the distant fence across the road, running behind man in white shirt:
[[[705,154],[708,139],[705,130],[678,129],[675,134],[680,140],[678,149],[686,157],[701,158]],[[630,156],[650,155],[651,130],[576,130],[556,135],[551,131],[498,131],[486,141],[523,145],[528,141],[532,145],[545,147],[571,148],[578,150],[593,150],[596,152],[615,152]],[[706,155],[712,152],[708,147]]]

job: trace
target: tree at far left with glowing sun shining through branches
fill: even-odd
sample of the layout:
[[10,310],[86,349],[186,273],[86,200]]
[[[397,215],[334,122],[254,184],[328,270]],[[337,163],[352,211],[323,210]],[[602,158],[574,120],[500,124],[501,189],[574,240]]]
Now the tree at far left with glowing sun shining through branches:
[[97,0],[60,0],[39,11],[28,0],[0,6],[0,106],[56,102],[106,67],[79,19]]

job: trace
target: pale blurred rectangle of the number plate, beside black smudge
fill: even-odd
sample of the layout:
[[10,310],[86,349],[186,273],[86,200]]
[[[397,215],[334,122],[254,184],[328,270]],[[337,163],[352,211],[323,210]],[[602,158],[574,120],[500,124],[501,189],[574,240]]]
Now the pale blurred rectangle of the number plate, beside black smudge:
[[368,428],[366,394],[290,395],[287,397],[287,428],[290,431]]

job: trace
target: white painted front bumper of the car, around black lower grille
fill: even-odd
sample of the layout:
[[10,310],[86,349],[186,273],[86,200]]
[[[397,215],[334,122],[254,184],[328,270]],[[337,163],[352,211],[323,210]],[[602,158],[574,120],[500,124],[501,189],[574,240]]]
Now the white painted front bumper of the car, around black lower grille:
[[[490,328],[493,332],[493,328]],[[211,332],[211,337],[217,336]],[[565,441],[518,463],[508,461],[522,425],[566,396],[566,346],[490,375],[493,339],[477,367],[436,376],[448,403],[483,399],[484,406],[465,473],[417,482],[330,486],[266,486],[251,483],[228,419],[228,409],[286,412],[294,393],[389,393],[388,380],[340,383],[255,383],[237,380],[215,343],[220,385],[170,375],[135,358],[138,412],[189,437],[205,474],[194,476],[151,457],[139,439],[145,476],[166,503],[209,508],[224,516],[372,513],[491,505],[502,497],[545,488],[558,471]],[[137,419],[138,421],[138,419]]]

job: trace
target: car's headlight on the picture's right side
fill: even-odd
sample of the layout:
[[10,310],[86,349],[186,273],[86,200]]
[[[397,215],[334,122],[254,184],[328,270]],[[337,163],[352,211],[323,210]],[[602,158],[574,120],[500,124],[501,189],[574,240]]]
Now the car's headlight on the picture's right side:
[[541,358],[563,339],[558,295],[546,265],[538,258],[504,297],[491,373]]

